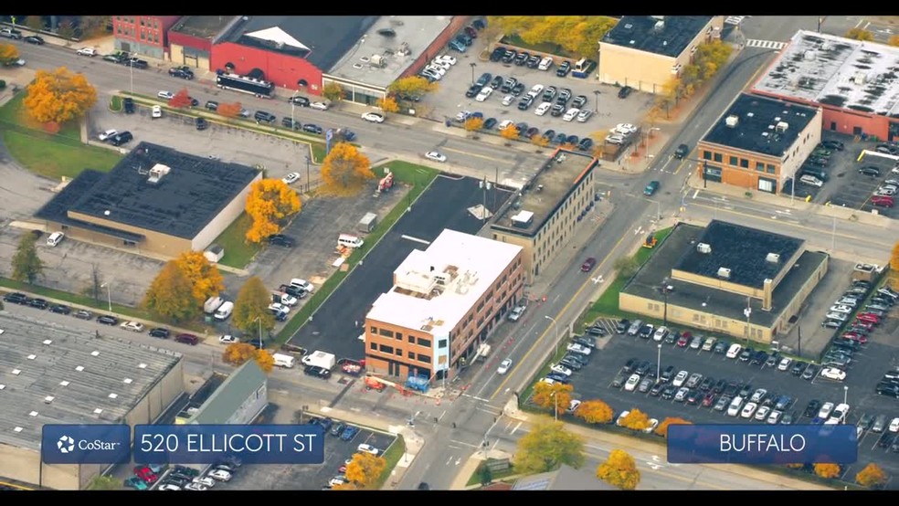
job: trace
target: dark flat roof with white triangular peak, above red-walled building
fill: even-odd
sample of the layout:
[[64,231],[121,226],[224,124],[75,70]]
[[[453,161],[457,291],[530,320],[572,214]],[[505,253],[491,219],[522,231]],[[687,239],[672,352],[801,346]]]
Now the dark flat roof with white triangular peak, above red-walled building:
[[380,16],[243,16],[223,40],[331,69]]

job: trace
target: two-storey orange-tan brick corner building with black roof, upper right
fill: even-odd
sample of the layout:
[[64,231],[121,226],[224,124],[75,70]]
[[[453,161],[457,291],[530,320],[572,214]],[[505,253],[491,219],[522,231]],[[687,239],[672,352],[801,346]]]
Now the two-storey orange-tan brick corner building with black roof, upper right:
[[697,145],[699,176],[778,194],[821,141],[821,110],[739,95]]

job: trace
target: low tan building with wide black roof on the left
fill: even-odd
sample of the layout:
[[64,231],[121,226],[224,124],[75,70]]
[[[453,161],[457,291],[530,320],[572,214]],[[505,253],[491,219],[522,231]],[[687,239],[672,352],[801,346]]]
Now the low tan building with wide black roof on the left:
[[49,232],[174,258],[209,246],[261,178],[244,165],[142,142],[109,173],[79,174],[35,217]]

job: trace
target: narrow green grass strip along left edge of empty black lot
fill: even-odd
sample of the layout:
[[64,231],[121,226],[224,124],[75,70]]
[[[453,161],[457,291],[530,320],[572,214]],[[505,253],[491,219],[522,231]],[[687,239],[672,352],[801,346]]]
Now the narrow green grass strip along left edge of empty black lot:
[[[300,329],[303,323],[309,321],[309,317],[319,309],[328,297],[331,296],[333,290],[337,290],[337,287],[339,287],[344,281],[344,278],[349,275],[354,266],[359,263],[359,260],[364,258],[371,248],[377,246],[381,237],[384,237],[387,231],[389,231],[394,224],[397,223],[397,220],[403,216],[407,206],[418,200],[418,196],[428,188],[431,182],[434,181],[434,178],[437,177],[437,174],[439,174],[439,172],[434,169],[415,163],[391,162],[374,167],[376,177],[382,177],[384,174],[384,167],[390,167],[390,170],[394,174],[395,181],[413,185],[412,188],[409,189],[407,197],[401,202],[398,202],[397,206],[394,206],[394,208],[387,213],[387,216],[384,216],[384,219],[377,224],[375,230],[365,237],[365,245],[362,248],[356,249],[353,254],[350,255],[350,258],[346,259],[348,269],[345,271],[338,270],[334,272],[327,281],[322,283],[322,286],[319,287],[318,290],[315,290],[315,293],[312,294],[312,298],[300,308],[300,311],[297,311],[291,320],[284,325],[284,328],[278,332],[277,341],[279,343],[286,343],[287,340],[291,338],[291,335]],[[225,234],[222,235],[224,236]],[[227,258],[227,248],[225,249],[225,258]]]

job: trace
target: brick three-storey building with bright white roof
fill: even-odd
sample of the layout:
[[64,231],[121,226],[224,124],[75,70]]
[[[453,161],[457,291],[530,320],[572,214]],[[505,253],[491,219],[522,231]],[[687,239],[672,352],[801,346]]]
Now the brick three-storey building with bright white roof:
[[394,270],[365,315],[365,367],[376,374],[453,377],[524,292],[523,250],[446,229]]

